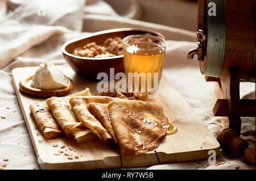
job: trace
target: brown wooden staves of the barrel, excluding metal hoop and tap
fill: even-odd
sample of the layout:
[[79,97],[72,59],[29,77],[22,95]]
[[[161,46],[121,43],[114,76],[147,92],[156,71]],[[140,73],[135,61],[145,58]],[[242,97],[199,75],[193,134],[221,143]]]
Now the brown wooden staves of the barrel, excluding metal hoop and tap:
[[[199,0],[198,27],[203,29],[206,35],[209,31],[207,30],[207,10],[207,0]],[[226,0],[225,21],[225,54],[221,76],[227,76],[228,69],[235,67],[239,70],[241,81],[247,81],[254,66],[255,56],[254,0]],[[207,61],[206,55],[205,60],[199,62],[202,74]]]

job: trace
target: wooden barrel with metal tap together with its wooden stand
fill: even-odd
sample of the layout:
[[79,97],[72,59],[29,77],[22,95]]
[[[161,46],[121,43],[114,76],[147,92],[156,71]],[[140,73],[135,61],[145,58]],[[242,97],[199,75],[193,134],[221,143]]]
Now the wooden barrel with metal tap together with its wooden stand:
[[255,99],[240,99],[240,82],[255,82],[255,0],[199,0],[198,5],[198,47],[188,58],[197,54],[205,79],[216,81],[214,116],[240,135],[241,117],[255,117]]

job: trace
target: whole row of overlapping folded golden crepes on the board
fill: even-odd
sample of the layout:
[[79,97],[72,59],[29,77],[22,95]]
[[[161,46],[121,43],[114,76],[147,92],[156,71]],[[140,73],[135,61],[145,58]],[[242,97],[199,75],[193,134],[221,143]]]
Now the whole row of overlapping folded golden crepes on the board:
[[117,95],[92,96],[86,89],[75,95],[32,104],[30,110],[48,139],[65,134],[78,142],[86,142],[97,137],[107,144],[119,145],[122,155],[158,148],[168,124],[162,107]]

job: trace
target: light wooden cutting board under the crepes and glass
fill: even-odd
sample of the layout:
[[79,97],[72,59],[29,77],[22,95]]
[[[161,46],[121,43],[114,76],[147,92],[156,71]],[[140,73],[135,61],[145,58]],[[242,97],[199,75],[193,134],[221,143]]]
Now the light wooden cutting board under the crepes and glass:
[[[103,144],[100,140],[84,144],[77,144],[68,137],[46,140],[28,108],[32,103],[46,99],[26,95],[19,90],[20,79],[34,74],[37,69],[38,67],[16,68],[12,73],[20,108],[41,169],[118,169],[150,166],[205,159],[209,157],[209,150],[215,150],[216,155],[220,152],[220,145],[216,138],[164,76],[160,82],[158,98],[150,101],[159,103],[163,107],[164,113],[169,121],[177,126],[178,131],[166,136],[156,151],[121,157],[117,148]],[[89,87],[92,95],[97,92],[97,82],[77,76],[69,66],[61,66],[61,70],[74,82],[75,86],[71,94],[86,87]],[[62,145],[68,146],[61,149]],[[59,150],[72,154],[73,159],[68,159],[63,153],[58,154]],[[75,159],[75,156],[79,158]]]

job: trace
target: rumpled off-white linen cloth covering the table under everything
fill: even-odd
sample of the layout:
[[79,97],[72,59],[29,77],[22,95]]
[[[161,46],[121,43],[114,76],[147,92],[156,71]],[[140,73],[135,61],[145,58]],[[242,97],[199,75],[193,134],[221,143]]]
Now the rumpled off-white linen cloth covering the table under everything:
[[[6,117],[0,118],[0,165],[6,163],[5,169],[39,169],[16,98],[11,70],[36,66],[46,60],[68,66],[61,54],[61,45],[89,32],[141,27],[163,33],[167,37],[164,75],[214,136],[224,129],[221,117],[214,117],[212,113],[216,102],[215,83],[205,82],[196,57],[187,59],[188,50],[197,46],[195,32],[135,20],[142,14],[139,3],[129,1],[125,12],[123,7],[117,10],[118,2],[7,1],[8,12],[0,18],[0,116]],[[241,83],[242,97],[255,99],[255,83]],[[241,137],[255,145],[255,117],[242,117]],[[4,162],[3,158],[9,161]],[[204,159],[132,169],[235,169],[236,166],[255,169],[244,157],[233,158],[224,152],[217,161],[226,163],[207,166],[208,161]]]

